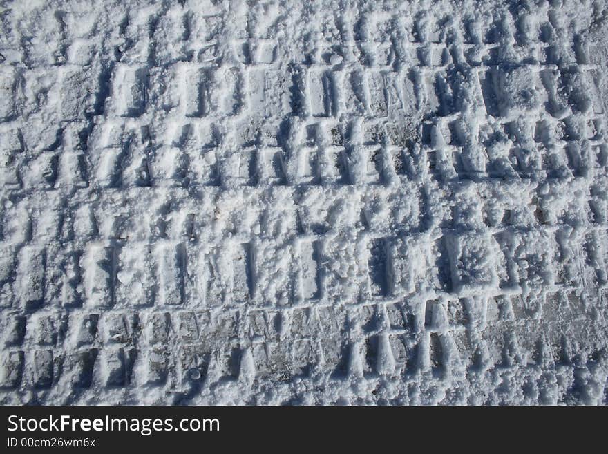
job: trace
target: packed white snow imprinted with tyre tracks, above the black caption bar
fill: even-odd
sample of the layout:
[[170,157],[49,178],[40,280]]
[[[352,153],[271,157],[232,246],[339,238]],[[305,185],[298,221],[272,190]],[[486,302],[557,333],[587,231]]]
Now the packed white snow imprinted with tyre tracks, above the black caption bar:
[[4,1],[3,404],[605,404],[605,1]]

